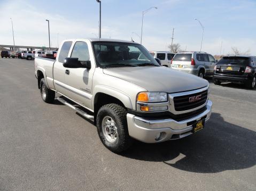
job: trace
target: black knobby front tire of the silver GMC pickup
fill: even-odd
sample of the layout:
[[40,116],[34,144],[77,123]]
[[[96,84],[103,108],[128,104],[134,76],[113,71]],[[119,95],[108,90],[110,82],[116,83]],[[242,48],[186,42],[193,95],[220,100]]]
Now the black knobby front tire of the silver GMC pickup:
[[[127,150],[127,148],[129,148],[132,143],[132,139],[128,133],[126,114],[127,111],[124,107],[114,103],[103,105],[102,107],[100,107],[97,113],[96,125],[99,138],[104,146],[114,153],[120,153]],[[104,132],[107,131],[106,129],[108,129],[108,131],[111,131],[111,128],[108,127],[105,127],[105,129],[103,129],[103,123],[105,121],[104,119],[106,118],[112,119],[114,121],[114,132],[117,131],[117,134],[115,134],[116,137],[114,137],[113,142],[110,142],[108,140],[108,137],[110,137],[109,135],[104,136]]]

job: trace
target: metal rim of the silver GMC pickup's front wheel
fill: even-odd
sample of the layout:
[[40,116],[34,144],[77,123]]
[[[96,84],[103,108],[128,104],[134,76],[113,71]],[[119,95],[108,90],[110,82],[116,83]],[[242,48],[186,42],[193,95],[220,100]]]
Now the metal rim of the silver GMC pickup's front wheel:
[[110,116],[106,116],[102,120],[102,132],[106,140],[114,143],[118,138],[118,130],[114,120]]

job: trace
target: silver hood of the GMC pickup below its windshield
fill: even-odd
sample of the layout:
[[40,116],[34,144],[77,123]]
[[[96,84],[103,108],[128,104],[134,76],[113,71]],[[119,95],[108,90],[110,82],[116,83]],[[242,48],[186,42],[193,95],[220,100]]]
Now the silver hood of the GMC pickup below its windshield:
[[176,93],[208,85],[205,79],[167,67],[120,67],[103,69],[103,72],[136,84],[149,92]]

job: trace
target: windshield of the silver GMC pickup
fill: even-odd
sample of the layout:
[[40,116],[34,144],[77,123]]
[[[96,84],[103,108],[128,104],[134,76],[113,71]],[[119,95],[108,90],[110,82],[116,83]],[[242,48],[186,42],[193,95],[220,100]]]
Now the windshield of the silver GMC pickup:
[[97,65],[99,67],[131,67],[160,65],[152,55],[140,44],[110,41],[92,42]]

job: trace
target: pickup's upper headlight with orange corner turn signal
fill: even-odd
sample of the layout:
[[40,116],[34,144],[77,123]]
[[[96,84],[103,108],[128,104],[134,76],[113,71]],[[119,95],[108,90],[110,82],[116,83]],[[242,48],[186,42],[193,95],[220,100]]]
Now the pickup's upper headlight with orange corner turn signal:
[[167,102],[166,92],[141,92],[137,95],[138,102]]

